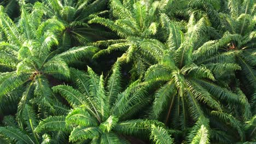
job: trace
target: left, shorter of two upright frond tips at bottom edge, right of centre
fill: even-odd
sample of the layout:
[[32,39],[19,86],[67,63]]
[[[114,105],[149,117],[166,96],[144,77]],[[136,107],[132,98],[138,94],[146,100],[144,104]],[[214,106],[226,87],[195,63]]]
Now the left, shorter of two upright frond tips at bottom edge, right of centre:
[[151,139],[156,144],[165,144],[165,143],[173,143],[173,139],[168,132],[162,127],[156,127],[154,124],[151,127]]

